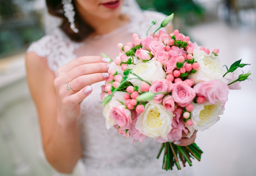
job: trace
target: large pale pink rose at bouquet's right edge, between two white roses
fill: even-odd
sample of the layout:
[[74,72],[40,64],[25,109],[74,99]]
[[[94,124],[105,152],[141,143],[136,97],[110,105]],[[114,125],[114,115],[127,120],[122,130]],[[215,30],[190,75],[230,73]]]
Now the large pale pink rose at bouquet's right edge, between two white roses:
[[212,104],[216,101],[227,102],[229,86],[220,80],[210,80],[208,82],[199,82],[193,87],[198,96],[204,96]]

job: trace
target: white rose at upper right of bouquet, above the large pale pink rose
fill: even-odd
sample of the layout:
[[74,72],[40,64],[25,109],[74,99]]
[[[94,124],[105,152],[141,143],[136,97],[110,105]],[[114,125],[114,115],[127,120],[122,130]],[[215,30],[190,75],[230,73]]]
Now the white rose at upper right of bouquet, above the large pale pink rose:
[[195,61],[197,61],[200,65],[198,71],[195,74],[189,74],[189,78],[193,78],[195,84],[200,81],[209,81],[209,80],[221,80],[222,82],[226,82],[227,80],[222,76],[222,65],[217,56],[213,53],[209,55],[200,50],[200,47],[196,47],[193,51],[193,57]]

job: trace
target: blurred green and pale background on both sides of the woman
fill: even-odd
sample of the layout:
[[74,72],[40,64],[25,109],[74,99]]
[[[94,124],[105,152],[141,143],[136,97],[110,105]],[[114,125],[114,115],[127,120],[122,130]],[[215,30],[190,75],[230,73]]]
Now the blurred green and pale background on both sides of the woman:
[[[175,13],[175,29],[212,51],[228,67],[250,66],[251,80],[231,90],[220,121],[198,132],[204,151],[194,161],[197,176],[255,176],[256,167],[256,0],[137,0],[144,10]],[[45,160],[24,57],[31,42],[51,28],[44,0],[0,0],[0,176],[62,176]],[[56,23],[54,23],[56,24]],[[81,176],[80,163],[72,176]]]

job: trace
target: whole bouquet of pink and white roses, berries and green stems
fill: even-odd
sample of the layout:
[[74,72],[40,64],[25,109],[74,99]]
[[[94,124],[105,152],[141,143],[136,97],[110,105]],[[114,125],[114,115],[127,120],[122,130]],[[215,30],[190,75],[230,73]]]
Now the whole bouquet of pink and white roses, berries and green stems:
[[186,162],[191,166],[191,158],[200,161],[203,152],[195,143],[181,147],[173,140],[179,141],[182,131],[191,137],[195,130],[214,125],[229,89],[240,89],[239,82],[250,75],[238,74],[239,67],[248,65],[241,60],[225,66],[223,73],[218,49],[210,52],[178,30],[159,30],[172,19],[173,14],[167,16],[150,36],[133,33],[132,42],[117,44],[120,54],[109,68],[103,98],[106,127],[132,137],[132,142],[149,137],[162,143],[157,158],[164,151],[166,170],[174,165],[181,169]]

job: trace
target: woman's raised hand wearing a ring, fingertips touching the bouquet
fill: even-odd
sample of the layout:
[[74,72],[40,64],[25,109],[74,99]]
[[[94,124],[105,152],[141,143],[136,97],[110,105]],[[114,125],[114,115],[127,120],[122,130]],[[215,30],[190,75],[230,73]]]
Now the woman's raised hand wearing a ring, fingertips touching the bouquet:
[[80,113],[80,102],[91,92],[91,84],[109,77],[110,59],[99,56],[76,58],[60,67],[54,80],[61,121],[74,121]]

